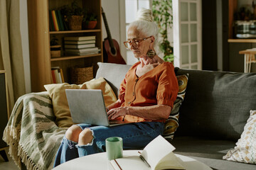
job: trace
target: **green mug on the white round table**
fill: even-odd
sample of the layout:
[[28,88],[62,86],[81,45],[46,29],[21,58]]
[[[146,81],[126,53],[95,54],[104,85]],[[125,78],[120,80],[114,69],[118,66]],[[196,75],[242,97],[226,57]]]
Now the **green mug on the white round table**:
[[108,137],[106,139],[107,159],[122,158],[123,143],[122,137]]

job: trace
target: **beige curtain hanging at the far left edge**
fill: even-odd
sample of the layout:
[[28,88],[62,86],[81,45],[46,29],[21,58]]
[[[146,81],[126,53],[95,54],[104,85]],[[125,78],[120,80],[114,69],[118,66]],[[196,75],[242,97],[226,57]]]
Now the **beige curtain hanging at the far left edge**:
[[0,69],[6,70],[10,110],[26,91],[19,1],[0,0]]

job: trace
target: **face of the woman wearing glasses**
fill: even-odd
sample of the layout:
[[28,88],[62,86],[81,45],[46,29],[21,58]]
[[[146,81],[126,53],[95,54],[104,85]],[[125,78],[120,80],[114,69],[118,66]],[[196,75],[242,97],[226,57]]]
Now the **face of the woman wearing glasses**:
[[[127,40],[141,40],[142,38],[146,38],[146,35],[144,33],[137,30],[135,26],[132,26],[127,31]],[[151,42],[154,42],[153,38],[148,38],[146,40],[143,40],[142,42],[139,42],[139,47],[136,47],[135,43],[132,43],[131,50],[134,53],[134,57],[139,59],[139,57],[145,57],[146,53],[149,50],[149,46],[151,45]],[[135,46],[135,47],[134,47]]]

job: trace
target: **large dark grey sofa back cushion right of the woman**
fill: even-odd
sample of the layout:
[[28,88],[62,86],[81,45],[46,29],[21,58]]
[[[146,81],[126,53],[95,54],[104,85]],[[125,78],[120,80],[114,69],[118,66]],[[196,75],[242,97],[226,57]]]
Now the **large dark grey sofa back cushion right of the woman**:
[[178,69],[189,74],[176,135],[237,141],[256,106],[256,74]]

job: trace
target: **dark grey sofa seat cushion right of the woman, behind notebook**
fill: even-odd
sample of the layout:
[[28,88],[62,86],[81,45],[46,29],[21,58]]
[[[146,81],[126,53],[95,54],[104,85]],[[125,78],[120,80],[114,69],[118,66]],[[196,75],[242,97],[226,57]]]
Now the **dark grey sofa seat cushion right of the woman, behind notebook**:
[[235,142],[230,140],[210,140],[204,137],[176,136],[170,142],[176,148],[174,150],[175,154],[196,159],[210,166],[213,170],[255,169],[255,165],[252,164],[228,162],[222,159],[223,155],[235,146]]

